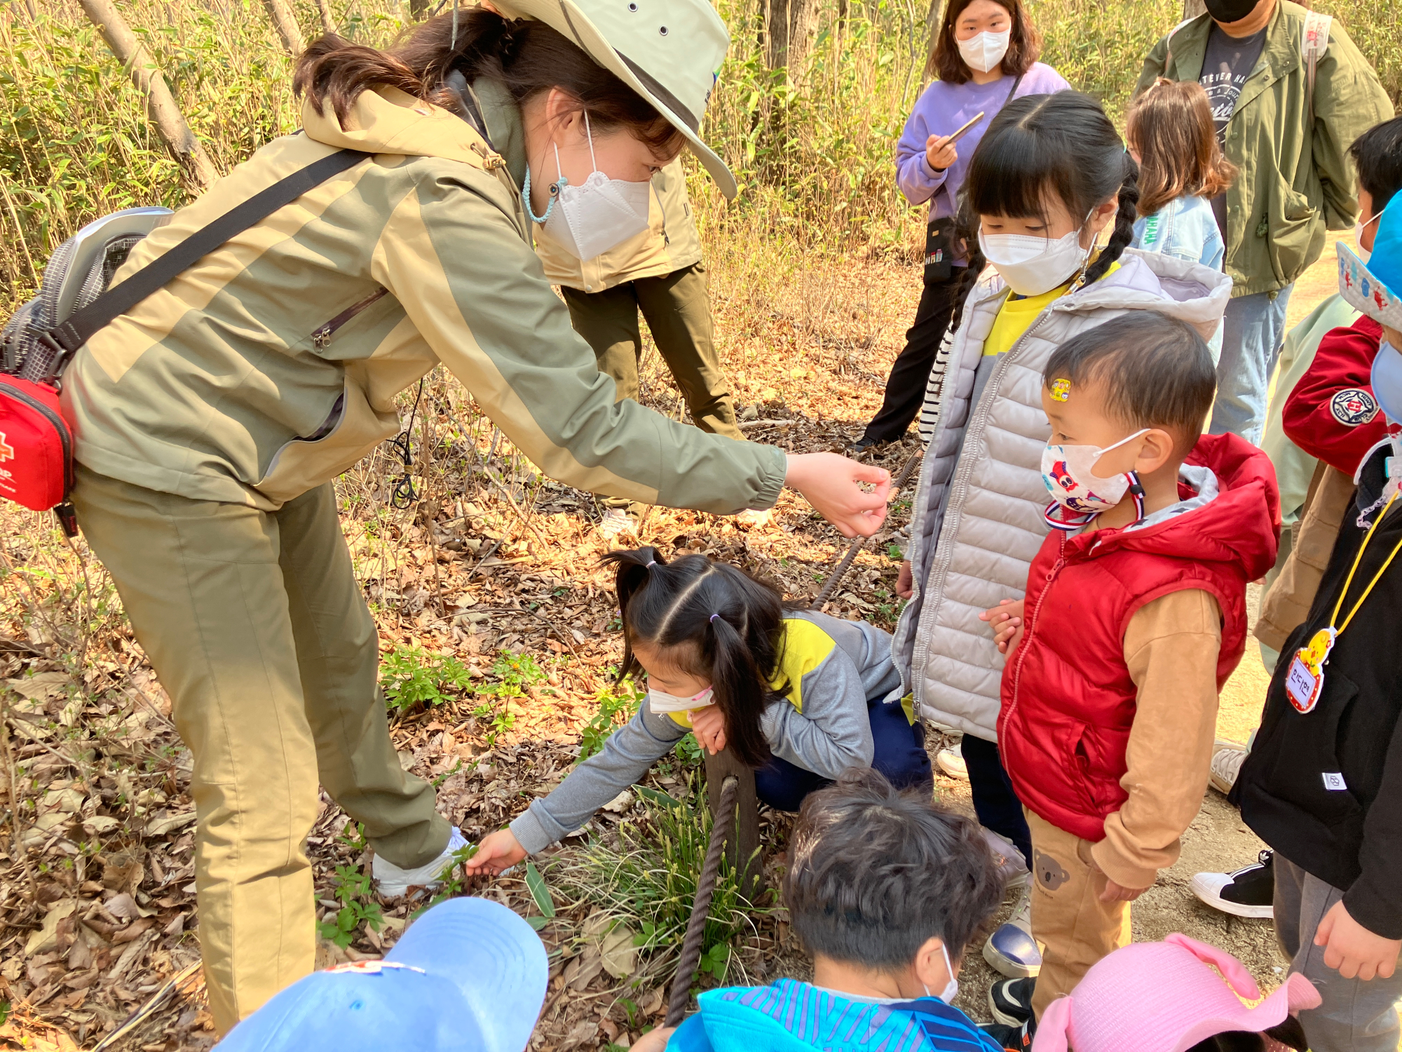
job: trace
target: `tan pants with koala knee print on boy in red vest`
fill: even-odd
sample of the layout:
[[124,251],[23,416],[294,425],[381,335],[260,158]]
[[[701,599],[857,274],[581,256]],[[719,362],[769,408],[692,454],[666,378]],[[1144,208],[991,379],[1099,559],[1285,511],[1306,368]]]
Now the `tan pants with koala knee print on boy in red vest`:
[[1032,830],[1032,937],[1044,945],[1032,994],[1040,1020],[1091,965],[1129,945],[1130,903],[1101,902],[1106,877],[1091,863],[1089,840],[1022,811]]

